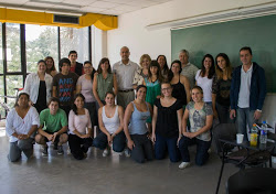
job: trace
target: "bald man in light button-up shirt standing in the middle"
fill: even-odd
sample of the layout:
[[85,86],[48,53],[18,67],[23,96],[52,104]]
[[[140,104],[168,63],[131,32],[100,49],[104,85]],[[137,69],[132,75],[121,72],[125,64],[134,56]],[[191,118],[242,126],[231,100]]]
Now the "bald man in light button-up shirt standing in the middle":
[[126,109],[127,105],[135,99],[132,82],[135,72],[139,68],[137,63],[129,60],[129,48],[123,46],[120,48],[121,61],[113,65],[118,82],[117,104],[123,106],[124,109]]

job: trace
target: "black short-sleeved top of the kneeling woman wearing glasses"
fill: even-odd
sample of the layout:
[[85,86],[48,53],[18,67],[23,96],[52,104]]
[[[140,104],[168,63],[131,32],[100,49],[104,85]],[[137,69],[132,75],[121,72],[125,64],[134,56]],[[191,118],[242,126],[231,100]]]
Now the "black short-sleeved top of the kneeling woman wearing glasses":
[[158,108],[156,133],[166,138],[178,137],[178,110],[182,108],[181,101],[177,99],[170,107],[163,107],[159,98],[156,99],[155,106]]

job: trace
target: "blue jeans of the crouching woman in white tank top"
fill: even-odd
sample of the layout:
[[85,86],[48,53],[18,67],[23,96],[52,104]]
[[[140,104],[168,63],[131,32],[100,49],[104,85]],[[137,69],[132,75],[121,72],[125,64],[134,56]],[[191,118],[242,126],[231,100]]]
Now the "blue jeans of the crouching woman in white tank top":
[[[94,139],[93,146],[99,148],[100,150],[106,149],[107,147],[107,136],[104,132],[99,132],[99,134]],[[121,131],[113,139],[113,150],[115,152],[123,152],[126,146],[126,137]]]

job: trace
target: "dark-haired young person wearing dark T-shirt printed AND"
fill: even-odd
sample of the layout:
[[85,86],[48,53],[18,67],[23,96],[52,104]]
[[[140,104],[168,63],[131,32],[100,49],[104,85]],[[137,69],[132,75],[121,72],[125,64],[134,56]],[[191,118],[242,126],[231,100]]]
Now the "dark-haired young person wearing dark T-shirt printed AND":
[[61,101],[62,108],[66,115],[71,110],[71,104],[75,95],[76,82],[78,76],[70,72],[71,62],[68,58],[62,58],[59,63],[61,73],[56,74],[53,78],[53,97]]

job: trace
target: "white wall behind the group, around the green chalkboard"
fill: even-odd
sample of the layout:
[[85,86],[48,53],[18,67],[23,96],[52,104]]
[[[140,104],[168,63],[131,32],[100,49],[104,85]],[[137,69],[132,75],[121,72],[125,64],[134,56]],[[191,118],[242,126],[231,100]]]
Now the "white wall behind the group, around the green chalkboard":
[[[113,64],[120,60],[119,50],[126,45],[134,62],[139,62],[139,57],[147,53],[152,58],[164,54],[170,64],[170,29],[148,31],[147,25],[269,2],[275,0],[174,0],[126,13],[119,15],[118,29],[107,32],[107,54]],[[268,123],[276,122],[275,107],[276,95],[268,95],[264,106],[264,118]]]

